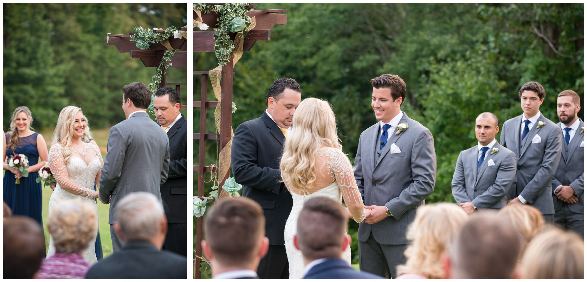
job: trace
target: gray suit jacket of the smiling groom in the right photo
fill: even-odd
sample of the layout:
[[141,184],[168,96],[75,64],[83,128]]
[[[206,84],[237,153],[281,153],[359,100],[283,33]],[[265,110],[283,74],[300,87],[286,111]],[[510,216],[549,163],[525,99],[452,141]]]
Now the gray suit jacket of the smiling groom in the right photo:
[[[436,152],[432,133],[406,113],[400,123],[408,129],[392,133],[379,150],[379,122],[361,133],[355,157],[355,179],[366,206],[386,206],[393,216],[375,224],[360,223],[357,240],[365,242],[369,234],[380,244],[407,244],[406,229],[416,216],[416,207],[434,190]],[[392,131],[392,130],[390,130]],[[390,154],[395,144],[400,153]]]

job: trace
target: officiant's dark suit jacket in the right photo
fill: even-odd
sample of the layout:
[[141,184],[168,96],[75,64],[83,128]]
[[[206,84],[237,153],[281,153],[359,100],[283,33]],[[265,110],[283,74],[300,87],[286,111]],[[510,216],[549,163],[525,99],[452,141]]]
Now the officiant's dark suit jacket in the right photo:
[[285,221],[292,209],[292,196],[280,182],[284,140],[279,126],[263,113],[237,127],[230,153],[234,180],[242,184],[242,196],[263,208],[265,236],[272,245],[284,245]]

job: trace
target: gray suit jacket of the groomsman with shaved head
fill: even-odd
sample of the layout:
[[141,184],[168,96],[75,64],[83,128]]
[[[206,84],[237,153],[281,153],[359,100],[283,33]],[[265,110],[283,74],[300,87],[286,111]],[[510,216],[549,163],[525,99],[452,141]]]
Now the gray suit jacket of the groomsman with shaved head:
[[[452,183],[457,203],[471,202],[477,209],[499,209],[506,205],[505,194],[515,179],[515,153],[497,142],[492,148],[499,152],[491,154],[488,150],[481,167],[477,166],[477,145],[458,154]],[[494,165],[489,165],[490,160]]]

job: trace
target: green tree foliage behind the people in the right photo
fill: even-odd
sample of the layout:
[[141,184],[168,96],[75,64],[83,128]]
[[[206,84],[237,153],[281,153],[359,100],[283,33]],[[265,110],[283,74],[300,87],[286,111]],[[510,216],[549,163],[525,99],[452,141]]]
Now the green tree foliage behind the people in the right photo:
[[[368,80],[397,74],[407,85],[402,110],[434,136],[438,172],[428,203],[454,202],[454,166],[458,153],[477,143],[479,113],[495,113],[500,125],[520,115],[518,89],[530,80],[544,86],[541,112],[554,122],[559,92],[573,89],[583,96],[583,4],[257,5],[288,9],[288,24],[275,25],[271,41],[258,41],[237,63],[232,127],[262,114],[275,79],[294,78],[302,99],[332,104],[343,150],[353,160],[360,133],[376,122]],[[212,53],[194,56],[194,70],[216,65]],[[200,76],[194,81],[194,100],[200,100]],[[214,133],[212,110],[208,133]],[[199,132],[199,112],[194,115]],[[210,164],[216,145],[206,142]],[[349,227],[356,239],[357,224],[351,220]],[[356,259],[356,241],[352,249]]]

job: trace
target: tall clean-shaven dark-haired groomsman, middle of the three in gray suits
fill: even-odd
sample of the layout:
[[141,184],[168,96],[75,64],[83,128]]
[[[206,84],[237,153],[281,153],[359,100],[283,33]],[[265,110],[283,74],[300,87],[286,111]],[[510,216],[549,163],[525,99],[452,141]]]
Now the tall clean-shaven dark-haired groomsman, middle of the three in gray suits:
[[552,222],[551,180],[561,159],[561,130],[540,112],[544,96],[540,83],[522,85],[519,98],[524,113],[504,122],[500,143],[518,158],[516,177],[507,194],[509,204],[531,204],[546,222]]

